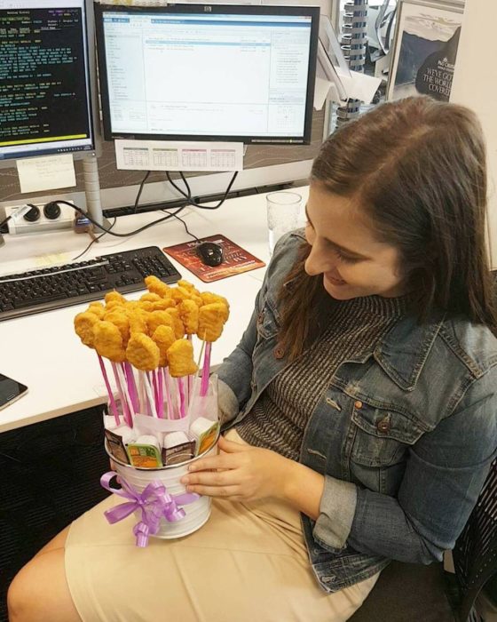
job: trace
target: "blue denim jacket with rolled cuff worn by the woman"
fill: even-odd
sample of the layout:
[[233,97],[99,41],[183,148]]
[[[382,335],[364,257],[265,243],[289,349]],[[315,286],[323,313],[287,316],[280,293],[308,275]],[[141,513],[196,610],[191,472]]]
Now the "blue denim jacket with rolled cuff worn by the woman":
[[[248,328],[217,372],[225,428],[288,364],[277,299],[302,240],[294,232],[277,244]],[[325,476],[319,517],[302,522],[327,592],[390,559],[430,563],[454,546],[497,454],[496,388],[497,339],[443,316],[419,324],[407,315],[373,352],[338,366],[299,459]]]

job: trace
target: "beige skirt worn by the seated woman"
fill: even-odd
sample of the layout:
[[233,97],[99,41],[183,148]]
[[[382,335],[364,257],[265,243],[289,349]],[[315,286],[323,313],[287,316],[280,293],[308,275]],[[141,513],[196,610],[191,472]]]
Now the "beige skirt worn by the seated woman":
[[274,499],[215,498],[200,530],[146,548],[135,546],[134,516],[106,522],[121,501],[107,498],[69,530],[67,583],[83,622],[342,622],[379,577],[323,592],[299,513]]

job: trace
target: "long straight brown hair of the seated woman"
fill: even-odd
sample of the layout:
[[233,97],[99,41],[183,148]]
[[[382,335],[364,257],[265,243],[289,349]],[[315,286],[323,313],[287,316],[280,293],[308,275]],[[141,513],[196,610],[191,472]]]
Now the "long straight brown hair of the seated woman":
[[[485,244],[485,140],[468,109],[428,97],[378,106],[332,134],[314,160],[311,183],[354,197],[377,239],[395,246],[412,312],[420,323],[441,310],[496,331]],[[309,276],[304,244],[280,291],[280,346],[303,348],[322,276]]]

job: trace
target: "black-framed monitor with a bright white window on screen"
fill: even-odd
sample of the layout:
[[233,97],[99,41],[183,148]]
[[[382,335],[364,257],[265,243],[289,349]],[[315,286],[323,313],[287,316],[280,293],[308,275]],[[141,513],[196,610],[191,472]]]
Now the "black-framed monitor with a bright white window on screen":
[[319,8],[95,4],[106,140],[308,143]]

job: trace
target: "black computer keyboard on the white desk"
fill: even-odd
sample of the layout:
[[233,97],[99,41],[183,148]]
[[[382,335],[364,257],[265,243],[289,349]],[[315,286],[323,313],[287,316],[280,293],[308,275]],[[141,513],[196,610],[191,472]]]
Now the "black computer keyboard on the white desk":
[[176,283],[181,278],[157,246],[0,276],[0,322],[101,299],[107,291],[124,294],[143,290],[143,280],[149,275],[164,283]]

